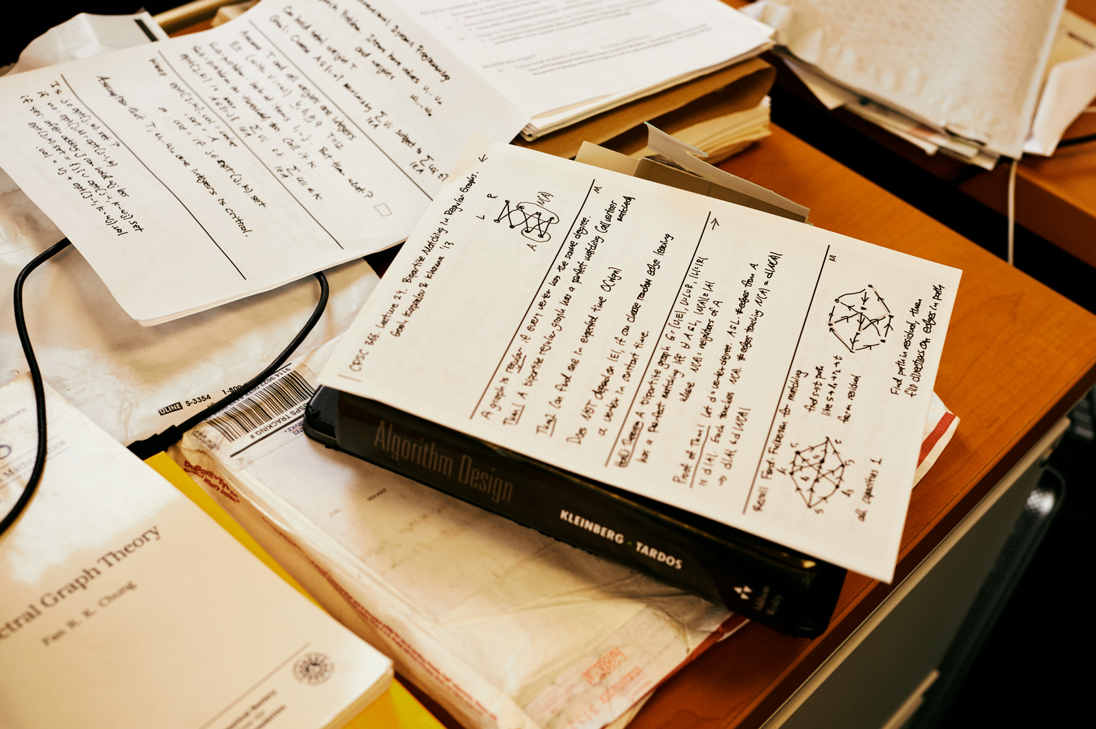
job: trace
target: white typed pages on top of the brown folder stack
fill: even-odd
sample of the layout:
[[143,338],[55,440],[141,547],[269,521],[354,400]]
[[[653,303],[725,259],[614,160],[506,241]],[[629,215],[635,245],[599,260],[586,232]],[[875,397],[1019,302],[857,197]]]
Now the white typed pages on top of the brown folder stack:
[[545,134],[772,47],[719,0],[410,0],[426,27]]

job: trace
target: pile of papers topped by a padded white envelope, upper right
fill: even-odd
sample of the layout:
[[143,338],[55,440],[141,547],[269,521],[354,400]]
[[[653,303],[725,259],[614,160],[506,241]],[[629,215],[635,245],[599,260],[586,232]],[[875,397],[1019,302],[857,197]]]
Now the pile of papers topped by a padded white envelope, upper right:
[[778,53],[830,108],[991,169],[1002,155],[1052,152],[1096,94],[1096,56],[1084,58],[1096,28],[1063,18],[1064,4],[762,0],[750,12],[777,30]]

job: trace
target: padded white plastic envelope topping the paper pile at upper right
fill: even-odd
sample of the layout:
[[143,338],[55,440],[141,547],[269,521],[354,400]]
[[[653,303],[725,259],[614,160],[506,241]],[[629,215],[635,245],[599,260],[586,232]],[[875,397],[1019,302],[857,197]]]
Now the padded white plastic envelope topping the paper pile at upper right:
[[850,90],[1019,157],[1065,0],[767,0],[777,43]]

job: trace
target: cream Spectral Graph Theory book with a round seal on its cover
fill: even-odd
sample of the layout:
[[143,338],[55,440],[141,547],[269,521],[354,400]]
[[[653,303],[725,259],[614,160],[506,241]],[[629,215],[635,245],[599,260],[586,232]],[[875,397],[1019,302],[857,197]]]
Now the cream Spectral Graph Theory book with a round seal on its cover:
[[[0,539],[0,726],[336,728],[391,662],[47,390],[39,490]],[[31,471],[27,378],[0,389],[0,508]]]

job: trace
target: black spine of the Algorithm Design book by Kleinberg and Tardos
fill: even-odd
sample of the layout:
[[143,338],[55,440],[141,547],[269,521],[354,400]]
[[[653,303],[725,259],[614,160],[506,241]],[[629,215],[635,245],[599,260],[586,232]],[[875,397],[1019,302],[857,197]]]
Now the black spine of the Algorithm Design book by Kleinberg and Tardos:
[[321,389],[306,417],[328,444],[784,633],[829,624],[844,569],[376,401],[339,393],[332,414],[333,395]]

